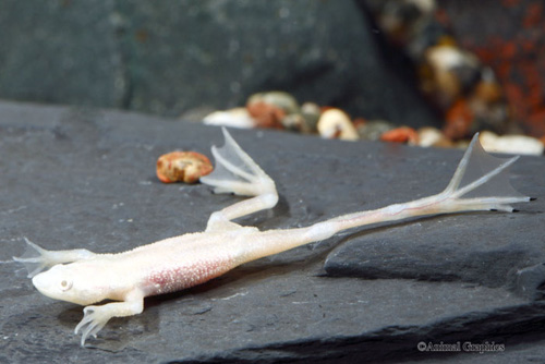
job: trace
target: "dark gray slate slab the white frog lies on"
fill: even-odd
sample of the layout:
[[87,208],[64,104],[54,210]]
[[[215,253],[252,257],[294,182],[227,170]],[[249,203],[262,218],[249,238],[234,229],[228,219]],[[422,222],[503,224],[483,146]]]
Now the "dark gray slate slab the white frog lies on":
[[[281,196],[271,211],[241,221],[261,229],[306,226],[439,192],[461,157],[458,150],[272,131],[232,134],[276,180]],[[543,357],[545,304],[520,294],[523,287],[536,292],[543,277],[545,161],[535,157],[522,157],[512,169],[513,184],[538,198],[519,206],[518,214],[434,217],[343,233],[194,289],[148,298],[143,314],[112,319],[98,339],[80,348],[73,329],[82,307],[40,295],[24,268],[11,262],[24,251],[23,236],[50,250],[102,253],[202,230],[211,211],[239,197],[214,195],[205,185],[161,184],[155,161],[175,148],[209,155],[209,146],[221,143],[219,129],[199,124],[0,102],[0,362],[510,363]],[[330,269],[348,248],[354,256],[367,248],[375,270],[365,278],[328,276],[326,258]],[[347,262],[354,270],[371,267]],[[509,287],[513,268],[528,271],[520,275],[519,291]],[[501,343],[505,352],[453,355],[416,349],[419,342],[440,341]]]

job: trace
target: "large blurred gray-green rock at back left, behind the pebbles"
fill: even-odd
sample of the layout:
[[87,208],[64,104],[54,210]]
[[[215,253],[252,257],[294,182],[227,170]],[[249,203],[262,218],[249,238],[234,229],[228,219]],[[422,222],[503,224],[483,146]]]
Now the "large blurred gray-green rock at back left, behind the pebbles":
[[343,1],[0,4],[0,97],[179,116],[259,90],[437,124],[366,15]]

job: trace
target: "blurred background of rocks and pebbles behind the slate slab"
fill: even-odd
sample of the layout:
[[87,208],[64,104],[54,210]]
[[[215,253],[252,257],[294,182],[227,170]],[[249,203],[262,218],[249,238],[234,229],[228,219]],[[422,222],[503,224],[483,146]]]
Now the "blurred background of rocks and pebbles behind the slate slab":
[[543,154],[543,7],[3,0],[0,98],[425,146],[485,130]]

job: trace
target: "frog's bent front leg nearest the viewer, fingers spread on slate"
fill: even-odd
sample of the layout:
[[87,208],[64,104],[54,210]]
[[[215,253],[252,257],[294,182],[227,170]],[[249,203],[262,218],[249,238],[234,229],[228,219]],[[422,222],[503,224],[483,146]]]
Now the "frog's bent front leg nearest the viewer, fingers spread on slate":
[[83,319],[75,327],[74,333],[82,330],[82,347],[89,336],[97,337],[97,332],[105,327],[112,317],[125,317],[141,314],[144,311],[144,294],[141,290],[131,291],[123,302],[107,303],[101,306],[83,308]]

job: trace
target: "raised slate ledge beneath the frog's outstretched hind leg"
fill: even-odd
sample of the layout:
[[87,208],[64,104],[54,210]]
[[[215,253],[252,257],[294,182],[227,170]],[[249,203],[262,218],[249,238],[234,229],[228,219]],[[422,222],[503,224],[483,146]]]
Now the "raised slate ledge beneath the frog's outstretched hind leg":
[[[517,162],[513,186],[525,195],[541,195],[545,179],[536,171],[544,168],[541,157]],[[516,214],[473,214],[475,225],[459,215],[363,231],[329,254],[325,270],[331,276],[367,279],[473,282],[542,298],[545,250],[535,227],[545,222],[545,201],[537,198],[517,208]]]

